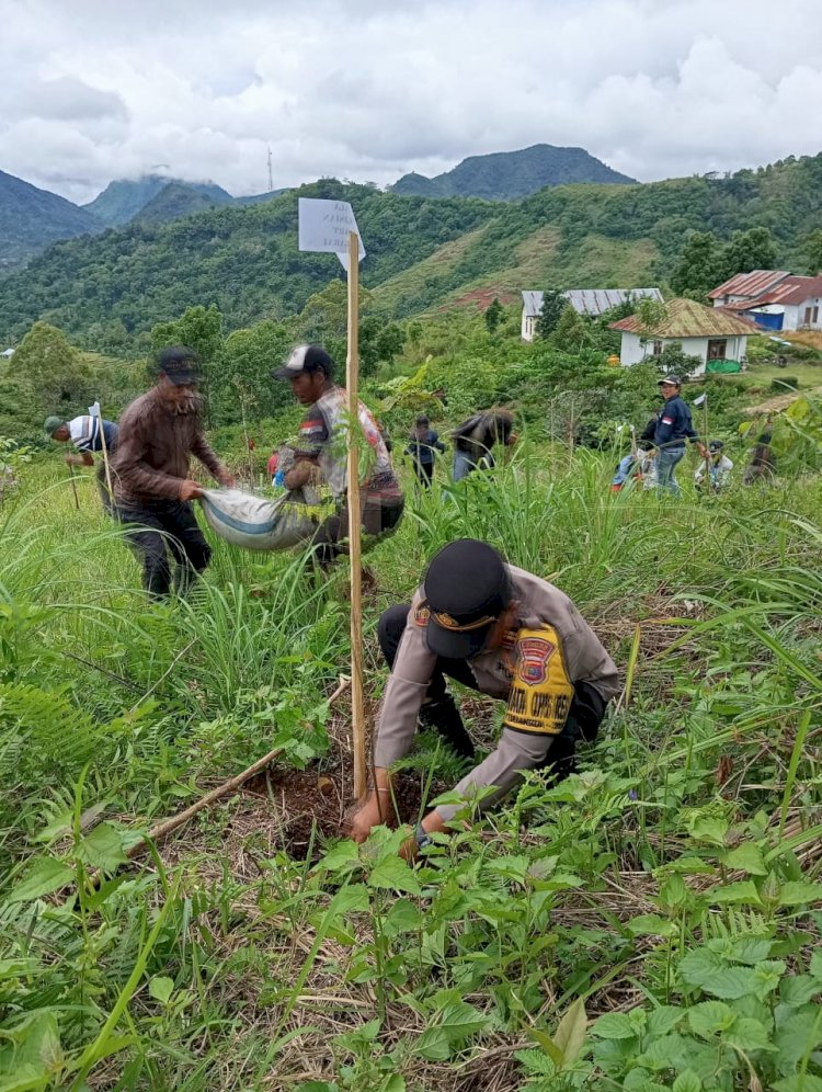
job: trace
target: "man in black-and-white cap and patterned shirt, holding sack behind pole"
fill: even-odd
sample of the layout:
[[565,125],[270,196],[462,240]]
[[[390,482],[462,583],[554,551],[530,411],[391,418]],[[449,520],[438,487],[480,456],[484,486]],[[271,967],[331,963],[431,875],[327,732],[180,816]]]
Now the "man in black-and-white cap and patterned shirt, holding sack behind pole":
[[[313,537],[316,556],[322,566],[330,565],[344,553],[340,544],[349,533],[347,465],[343,442],[347,395],[334,384],[333,374],[333,361],[320,345],[298,345],[286,364],[272,372],[276,379],[289,379],[297,401],[308,407],[299,429],[297,464],[285,475],[285,486],[299,489],[319,468],[336,501],[336,512],[321,524]],[[359,402],[358,420],[373,455],[361,491],[362,526],[366,535],[379,537],[397,527],[404,500],[386,442],[363,402]]]

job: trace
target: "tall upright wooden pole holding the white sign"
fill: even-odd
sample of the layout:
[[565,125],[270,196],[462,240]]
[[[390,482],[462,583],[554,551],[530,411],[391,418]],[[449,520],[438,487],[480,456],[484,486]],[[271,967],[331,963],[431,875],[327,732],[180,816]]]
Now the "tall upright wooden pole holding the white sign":
[[365,709],[363,704],[363,588],[359,503],[359,236],[349,232],[349,551],[351,564],[351,732],[354,747],[354,796],[366,790]]

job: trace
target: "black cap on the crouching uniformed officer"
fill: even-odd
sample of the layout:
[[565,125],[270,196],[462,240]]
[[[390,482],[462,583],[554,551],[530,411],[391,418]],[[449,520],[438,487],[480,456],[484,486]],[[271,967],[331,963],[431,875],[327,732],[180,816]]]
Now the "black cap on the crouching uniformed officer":
[[430,612],[425,641],[431,651],[467,660],[482,650],[511,602],[511,584],[495,549],[476,538],[458,538],[432,559],[423,595]]

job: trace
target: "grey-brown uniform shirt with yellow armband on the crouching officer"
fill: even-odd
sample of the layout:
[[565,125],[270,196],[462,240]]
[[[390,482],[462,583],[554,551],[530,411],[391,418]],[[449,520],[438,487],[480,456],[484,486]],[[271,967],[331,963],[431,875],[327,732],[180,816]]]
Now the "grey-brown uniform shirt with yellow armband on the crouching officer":
[[[614,661],[571,600],[547,580],[506,566],[512,595],[518,601],[516,628],[495,649],[468,660],[478,689],[507,699],[499,746],[457,785],[463,795],[495,785],[504,795],[518,771],[540,762],[559,735],[573,699],[574,683],[585,682],[609,701],[619,692]],[[425,644],[427,608],[423,589],[414,594],[408,625],[397,650],[377,726],[374,764],[389,769],[406,755],[437,658]],[[439,806],[444,820],[456,805]]]

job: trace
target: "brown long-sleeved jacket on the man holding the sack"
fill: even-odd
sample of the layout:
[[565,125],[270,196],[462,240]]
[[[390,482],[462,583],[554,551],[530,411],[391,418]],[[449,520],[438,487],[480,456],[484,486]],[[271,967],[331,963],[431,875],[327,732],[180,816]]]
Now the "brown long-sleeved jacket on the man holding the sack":
[[195,455],[213,475],[222,469],[206,443],[199,398],[172,406],[152,387],[136,398],[119,419],[119,440],[112,459],[114,497],[123,505],[179,500]]

